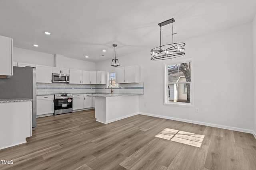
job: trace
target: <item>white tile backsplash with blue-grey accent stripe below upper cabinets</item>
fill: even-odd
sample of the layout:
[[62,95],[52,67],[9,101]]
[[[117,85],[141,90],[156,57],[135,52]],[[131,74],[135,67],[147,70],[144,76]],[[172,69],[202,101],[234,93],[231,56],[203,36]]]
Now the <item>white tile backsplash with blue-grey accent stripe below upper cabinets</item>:
[[[119,84],[112,88],[113,93],[144,94],[144,82]],[[68,83],[36,83],[36,94],[58,93],[110,93],[106,85],[68,84]]]

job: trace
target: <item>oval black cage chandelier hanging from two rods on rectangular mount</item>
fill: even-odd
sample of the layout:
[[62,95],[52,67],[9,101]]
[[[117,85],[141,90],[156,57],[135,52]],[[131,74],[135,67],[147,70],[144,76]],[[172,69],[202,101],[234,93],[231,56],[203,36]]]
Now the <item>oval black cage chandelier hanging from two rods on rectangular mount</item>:
[[[170,20],[158,23],[160,26],[160,46],[151,50],[151,60],[166,60],[166,59],[174,59],[177,57],[181,57],[185,55],[183,52],[185,49],[185,43],[173,43],[173,23],[175,20],[172,18]],[[172,23],[172,43],[167,45],[161,45],[161,27]]]

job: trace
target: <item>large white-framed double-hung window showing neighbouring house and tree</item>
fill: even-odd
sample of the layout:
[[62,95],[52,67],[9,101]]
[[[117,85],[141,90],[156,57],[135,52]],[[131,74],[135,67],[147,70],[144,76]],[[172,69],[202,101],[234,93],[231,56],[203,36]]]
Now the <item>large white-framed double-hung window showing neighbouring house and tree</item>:
[[191,59],[164,64],[164,104],[192,106]]

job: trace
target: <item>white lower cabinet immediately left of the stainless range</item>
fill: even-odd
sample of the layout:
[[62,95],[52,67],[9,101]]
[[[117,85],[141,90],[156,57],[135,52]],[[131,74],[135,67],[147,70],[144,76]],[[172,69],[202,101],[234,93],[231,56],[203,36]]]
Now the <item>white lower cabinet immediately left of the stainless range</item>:
[[37,96],[37,114],[54,113],[54,95]]

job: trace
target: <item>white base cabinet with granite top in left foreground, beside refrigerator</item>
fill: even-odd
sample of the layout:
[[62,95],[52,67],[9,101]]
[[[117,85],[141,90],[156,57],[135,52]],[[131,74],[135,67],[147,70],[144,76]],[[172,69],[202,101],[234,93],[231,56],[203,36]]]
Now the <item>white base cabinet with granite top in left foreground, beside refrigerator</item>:
[[0,149],[26,143],[32,136],[32,99],[1,99]]

